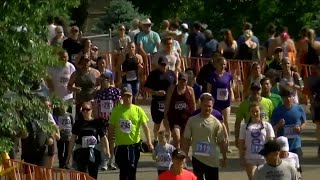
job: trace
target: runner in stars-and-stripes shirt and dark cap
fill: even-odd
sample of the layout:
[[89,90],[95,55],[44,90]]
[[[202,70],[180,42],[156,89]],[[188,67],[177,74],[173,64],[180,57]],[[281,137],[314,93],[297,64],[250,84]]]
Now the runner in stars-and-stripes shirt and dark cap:
[[[99,78],[101,89],[97,92],[94,98],[94,113],[95,117],[101,119],[104,128],[107,129],[109,126],[109,118],[112,109],[120,103],[121,93],[118,88],[112,87],[112,76],[110,73],[101,74]],[[110,137],[112,138],[112,137]],[[109,148],[112,149],[113,144],[109,144]],[[113,164],[114,154],[111,151],[111,157],[105,157],[102,155],[101,169],[102,170],[116,170],[116,166]]]

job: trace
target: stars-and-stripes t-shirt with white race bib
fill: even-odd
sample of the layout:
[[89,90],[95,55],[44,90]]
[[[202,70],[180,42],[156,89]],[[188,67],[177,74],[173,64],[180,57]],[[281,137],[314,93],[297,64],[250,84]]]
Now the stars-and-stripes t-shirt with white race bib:
[[98,91],[94,97],[94,101],[98,105],[98,117],[103,120],[109,120],[113,107],[120,102],[120,99],[121,93],[118,88],[109,87]]

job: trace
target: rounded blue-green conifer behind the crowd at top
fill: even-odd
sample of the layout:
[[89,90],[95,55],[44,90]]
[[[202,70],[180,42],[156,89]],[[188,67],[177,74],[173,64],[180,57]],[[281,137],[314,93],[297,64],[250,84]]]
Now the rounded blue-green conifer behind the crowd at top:
[[97,28],[103,32],[108,32],[109,28],[115,29],[120,24],[130,27],[132,20],[146,17],[140,14],[138,9],[127,0],[112,0],[105,9],[106,14],[97,24]]

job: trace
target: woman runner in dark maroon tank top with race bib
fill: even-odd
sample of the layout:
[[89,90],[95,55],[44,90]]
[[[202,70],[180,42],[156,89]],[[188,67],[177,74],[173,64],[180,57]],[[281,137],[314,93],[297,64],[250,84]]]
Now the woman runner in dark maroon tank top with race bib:
[[187,85],[188,75],[180,73],[178,84],[169,88],[166,96],[164,120],[169,124],[173,144],[180,147],[180,140],[187,121],[196,108],[196,100],[192,87]]

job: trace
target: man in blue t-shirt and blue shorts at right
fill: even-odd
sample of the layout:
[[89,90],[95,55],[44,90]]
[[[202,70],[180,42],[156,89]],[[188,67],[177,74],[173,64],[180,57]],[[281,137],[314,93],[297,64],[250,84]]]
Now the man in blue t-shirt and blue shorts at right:
[[302,158],[301,132],[306,124],[306,113],[303,108],[294,103],[294,92],[283,91],[283,105],[276,107],[272,113],[271,124],[279,136],[285,136],[289,141],[289,151]]

